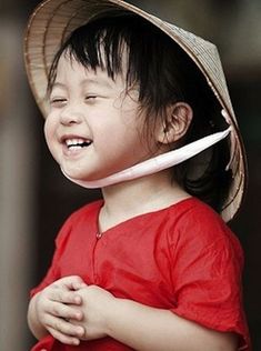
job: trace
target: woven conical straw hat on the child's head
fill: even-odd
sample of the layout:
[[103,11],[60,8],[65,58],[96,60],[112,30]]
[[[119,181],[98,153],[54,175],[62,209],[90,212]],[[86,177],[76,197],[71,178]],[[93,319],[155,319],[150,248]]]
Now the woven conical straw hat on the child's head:
[[[32,13],[26,31],[24,60],[36,101],[46,117],[48,72],[56,52],[68,36],[92,17],[110,10],[129,10],[149,20],[171,37],[194,61],[223,109],[223,118],[232,126],[231,160],[233,181],[223,202],[221,215],[231,220],[238,212],[247,187],[247,161],[238,122],[230,101],[228,87],[214,44],[181,28],[170,24],[121,0],[47,0]],[[221,117],[222,118],[222,117]]]

